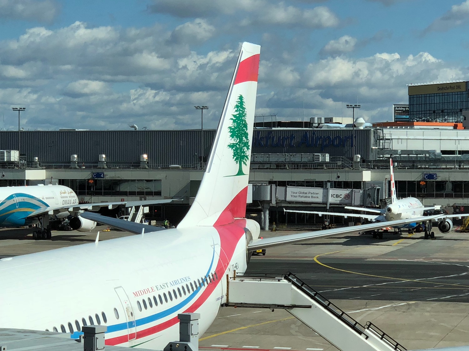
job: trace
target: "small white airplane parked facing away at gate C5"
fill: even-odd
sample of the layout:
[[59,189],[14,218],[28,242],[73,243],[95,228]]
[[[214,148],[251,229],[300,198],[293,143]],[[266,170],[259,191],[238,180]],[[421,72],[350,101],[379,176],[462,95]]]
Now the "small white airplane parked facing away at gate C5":
[[[371,221],[380,221],[380,222],[391,222],[396,219],[420,219],[424,216],[425,211],[429,210],[439,210],[441,206],[431,206],[425,207],[419,199],[415,197],[405,197],[398,199],[396,195],[396,185],[394,182],[394,170],[393,170],[393,159],[390,161],[390,170],[391,170],[391,203],[386,206],[384,209],[372,209],[366,207],[354,207],[354,206],[345,206],[344,208],[348,210],[356,210],[363,212],[371,212],[374,214],[359,214],[359,213],[340,213],[340,212],[320,212],[320,211],[300,211],[300,210],[284,210],[285,212],[299,212],[299,213],[315,213],[320,216],[331,215],[331,216],[341,216],[341,217],[359,217],[369,219]],[[415,220],[408,224],[386,227],[393,227],[399,229],[408,229],[409,234],[415,233],[416,227],[419,223],[425,222],[425,239],[434,239],[435,233],[431,231],[432,222],[438,222],[438,229],[441,233],[448,233],[453,229],[453,222],[451,218],[461,218],[461,214],[440,214],[436,218],[426,217],[425,220]],[[382,233],[380,234],[382,238]]]

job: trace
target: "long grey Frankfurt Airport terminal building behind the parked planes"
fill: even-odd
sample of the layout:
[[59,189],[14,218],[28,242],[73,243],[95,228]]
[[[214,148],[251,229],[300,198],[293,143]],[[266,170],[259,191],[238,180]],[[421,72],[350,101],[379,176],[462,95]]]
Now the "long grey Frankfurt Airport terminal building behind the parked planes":
[[[383,206],[390,157],[398,197],[466,212],[469,130],[462,123],[354,128],[316,122],[292,128],[288,122],[256,124],[248,202],[250,215],[263,227],[322,221],[285,214],[284,208],[337,212],[344,205]],[[58,183],[75,190],[82,203],[180,198],[151,206],[146,214],[149,220],[177,224],[197,193],[214,136],[214,130],[1,131],[0,150],[19,149],[21,157],[18,161],[10,152],[2,159],[0,152],[0,186]],[[298,196],[305,192],[310,196]]]

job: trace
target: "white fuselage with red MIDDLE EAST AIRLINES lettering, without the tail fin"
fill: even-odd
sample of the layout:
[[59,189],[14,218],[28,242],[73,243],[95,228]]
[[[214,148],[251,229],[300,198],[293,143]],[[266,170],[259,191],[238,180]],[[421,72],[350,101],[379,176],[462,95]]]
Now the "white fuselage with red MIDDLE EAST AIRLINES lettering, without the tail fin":
[[[226,274],[246,269],[246,220],[236,222],[238,225],[170,229],[3,259],[0,328],[56,328],[60,332],[63,325],[69,333],[71,323],[72,337],[77,337],[76,323],[80,329],[82,319],[88,325],[97,323],[98,314],[107,325],[106,344],[162,350],[168,342],[178,340],[177,314],[197,312],[202,334],[226,299]],[[198,286],[203,277],[204,285],[192,291],[191,286]],[[210,277],[209,284],[205,277]]]

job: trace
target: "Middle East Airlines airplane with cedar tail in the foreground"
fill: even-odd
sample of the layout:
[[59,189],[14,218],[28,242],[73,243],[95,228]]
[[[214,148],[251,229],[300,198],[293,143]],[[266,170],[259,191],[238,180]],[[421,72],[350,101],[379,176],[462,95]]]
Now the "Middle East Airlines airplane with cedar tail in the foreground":
[[259,45],[242,44],[200,188],[182,222],[153,233],[158,228],[84,212],[145,232],[2,258],[0,328],[78,338],[83,326],[105,324],[108,345],[163,350],[179,338],[180,313],[200,313],[199,333],[207,330],[227,301],[226,276],[245,272],[252,251],[383,227],[259,239],[258,223],[245,218],[259,55]]

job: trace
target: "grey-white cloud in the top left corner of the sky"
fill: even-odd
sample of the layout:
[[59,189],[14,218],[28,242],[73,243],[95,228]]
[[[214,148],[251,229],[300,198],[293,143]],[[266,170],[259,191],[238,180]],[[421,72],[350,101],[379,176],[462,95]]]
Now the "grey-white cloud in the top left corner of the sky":
[[59,13],[52,0],[0,0],[0,18],[50,23]]

